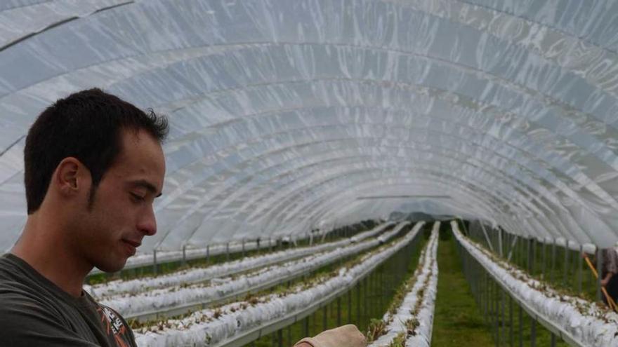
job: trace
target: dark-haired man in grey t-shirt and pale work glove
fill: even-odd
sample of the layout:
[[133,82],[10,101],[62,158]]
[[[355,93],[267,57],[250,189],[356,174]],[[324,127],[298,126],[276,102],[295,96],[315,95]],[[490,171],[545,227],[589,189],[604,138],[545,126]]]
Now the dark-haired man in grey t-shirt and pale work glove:
[[[121,270],[156,233],[167,130],[165,118],[99,89],[58,100],[34,121],[24,150],[27,222],[0,257],[0,346],[136,346],[119,313],[81,287],[95,266]],[[329,336],[352,330],[303,343],[331,347]]]

